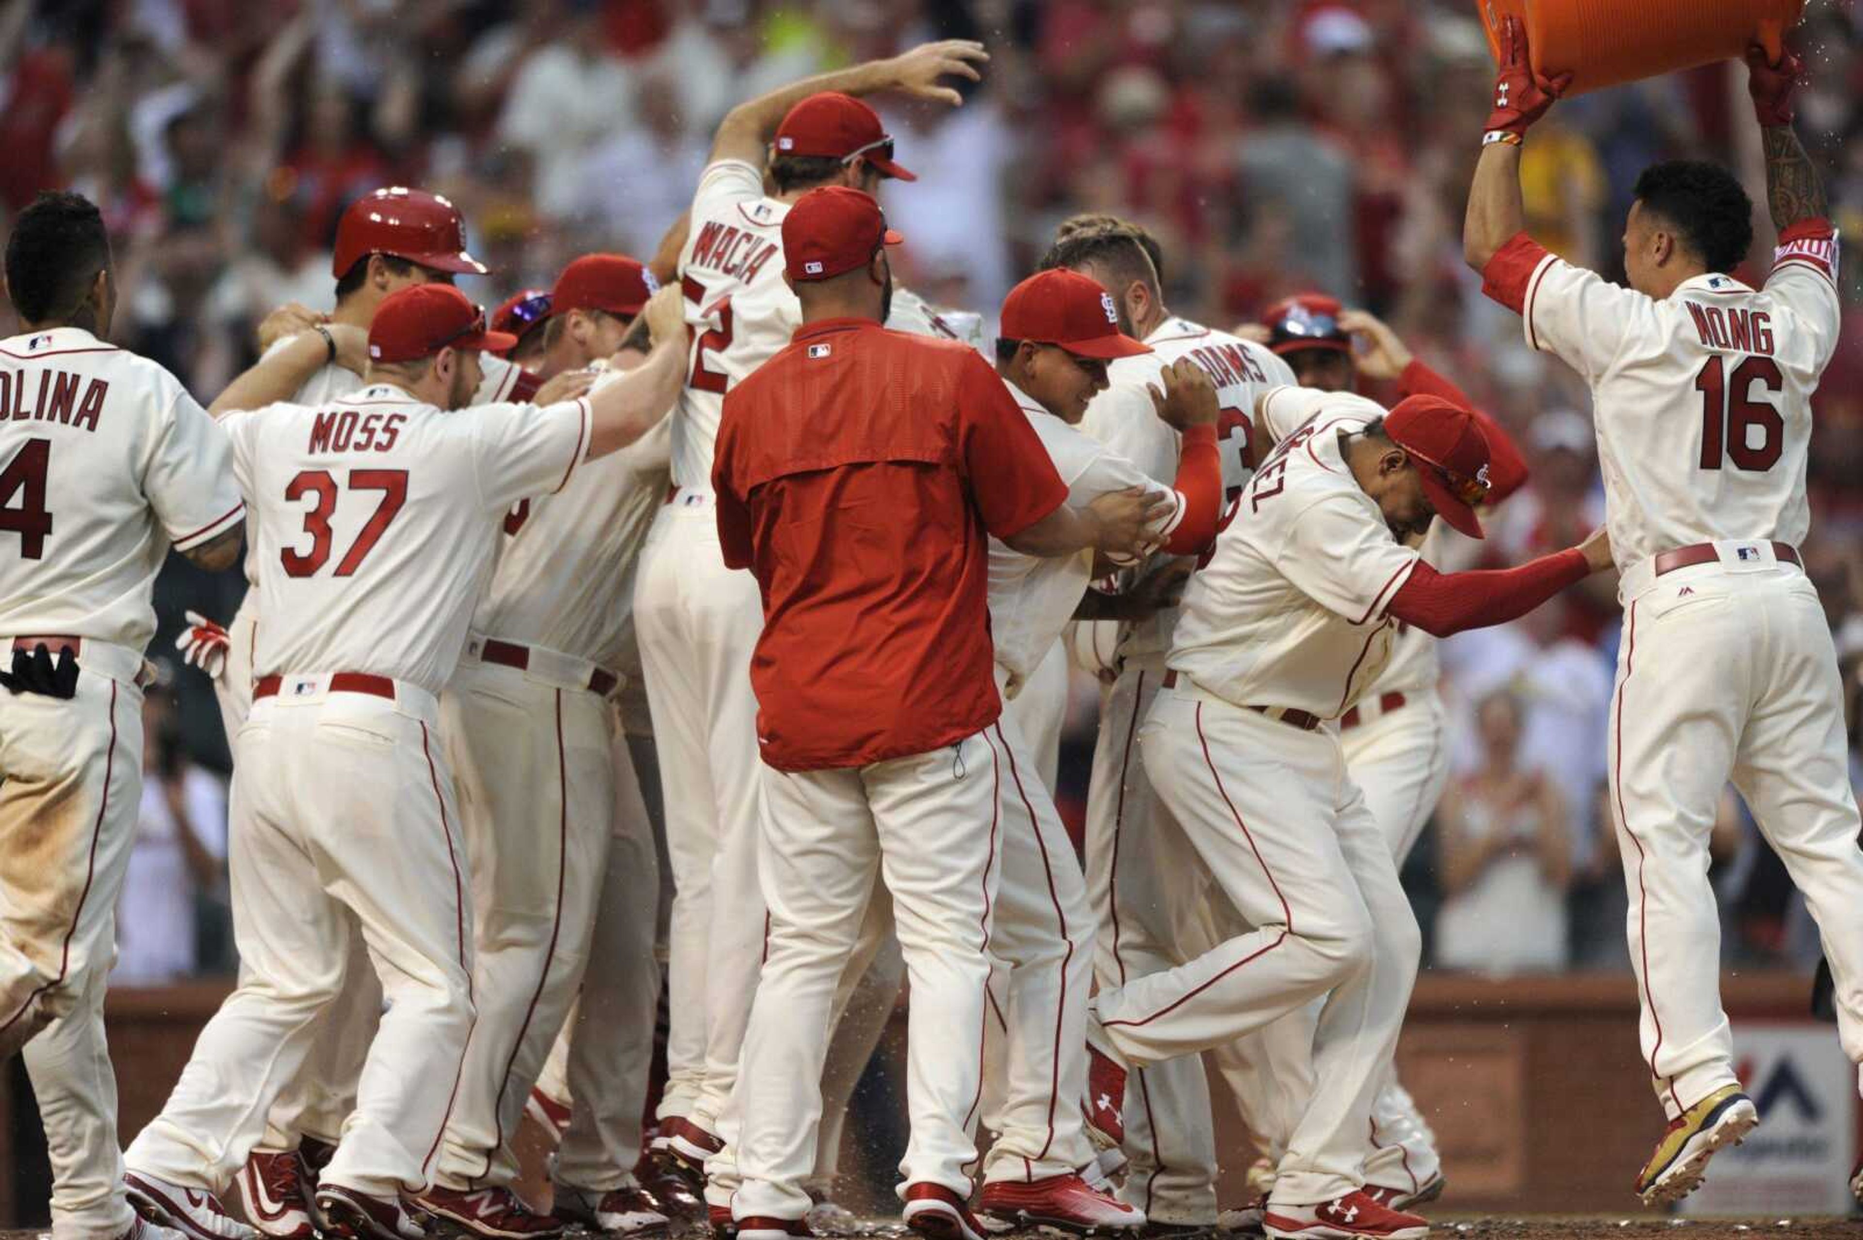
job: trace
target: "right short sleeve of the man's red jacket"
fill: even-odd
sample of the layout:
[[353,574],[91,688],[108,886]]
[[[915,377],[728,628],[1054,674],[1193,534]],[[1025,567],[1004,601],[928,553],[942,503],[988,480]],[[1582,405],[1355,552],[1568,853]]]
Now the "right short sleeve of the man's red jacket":
[[958,445],[963,478],[997,538],[1013,538],[1067,503],[1067,484],[1010,389],[971,348],[958,382]]

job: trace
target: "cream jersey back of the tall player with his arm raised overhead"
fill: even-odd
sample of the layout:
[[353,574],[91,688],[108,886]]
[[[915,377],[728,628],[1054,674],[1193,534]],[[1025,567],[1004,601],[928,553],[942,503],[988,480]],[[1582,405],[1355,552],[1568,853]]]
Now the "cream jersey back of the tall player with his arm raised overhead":
[[764,197],[764,173],[745,160],[704,169],[691,233],[680,249],[680,289],[691,357],[673,415],[673,484],[712,486],[712,451],[725,393],[790,343],[801,305],[782,283],[788,203]]

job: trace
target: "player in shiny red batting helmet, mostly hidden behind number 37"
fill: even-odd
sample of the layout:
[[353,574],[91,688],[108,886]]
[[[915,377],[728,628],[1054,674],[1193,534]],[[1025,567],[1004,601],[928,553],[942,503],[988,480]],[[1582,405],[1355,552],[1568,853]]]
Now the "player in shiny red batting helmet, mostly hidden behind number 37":
[[[466,251],[466,223],[453,203],[399,186],[356,199],[337,222],[332,270],[335,311],[328,322],[283,335],[214,400],[212,411],[252,410],[272,402],[320,404],[361,385],[367,369],[367,331],[380,305],[401,289],[451,283],[456,274],[484,274]],[[283,313],[281,313],[283,315]],[[279,315],[279,317],[281,317]],[[550,400],[537,376],[503,357],[484,356],[473,404]],[[246,598],[227,629],[190,614],[181,635],[188,661],[214,676],[229,745],[252,706],[252,650],[259,620],[257,538],[246,549]],[[246,1220],[274,1240],[309,1240],[315,1223],[317,1169],[330,1160],[343,1121],[356,1106],[356,1082],[374,1037],[382,994],[360,937],[341,998],[322,1017],[322,1028],[300,1076],[285,1087],[266,1119],[265,1139],[238,1177]]]

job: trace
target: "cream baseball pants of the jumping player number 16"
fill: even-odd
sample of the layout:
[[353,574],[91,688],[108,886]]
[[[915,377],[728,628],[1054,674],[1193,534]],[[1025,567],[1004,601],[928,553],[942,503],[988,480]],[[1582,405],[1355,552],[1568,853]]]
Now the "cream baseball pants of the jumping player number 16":
[[1831,631],[1803,572],[1733,547],[1662,577],[1645,562],[1623,583],[1610,795],[1643,1061],[1671,1119],[1736,1082],[1708,886],[1729,778],[1818,922],[1839,1037],[1863,1063],[1863,851]]

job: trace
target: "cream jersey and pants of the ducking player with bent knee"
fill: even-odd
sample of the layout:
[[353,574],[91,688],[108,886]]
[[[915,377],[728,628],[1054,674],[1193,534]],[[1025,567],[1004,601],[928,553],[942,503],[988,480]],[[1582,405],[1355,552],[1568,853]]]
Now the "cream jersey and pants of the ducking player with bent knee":
[[1330,994],[1315,1087],[1274,1182],[1280,1205],[1364,1179],[1366,1132],[1420,953],[1410,903],[1338,735],[1390,655],[1386,607],[1420,557],[1392,538],[1343,460],[1369,400],[1276,389],[1304,425],[1256,471],[1190,577],[1170,674],[1140,730],[1146,767],[1211,881],[1254,929],[1103,989],[1099,1018],[1135,1063],[1207,1050]]

